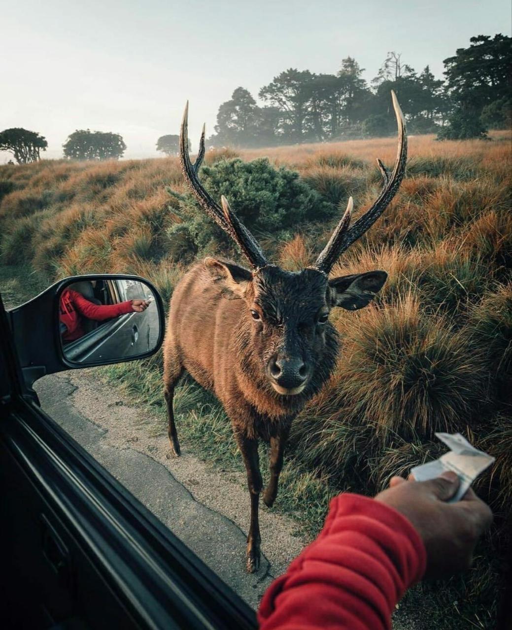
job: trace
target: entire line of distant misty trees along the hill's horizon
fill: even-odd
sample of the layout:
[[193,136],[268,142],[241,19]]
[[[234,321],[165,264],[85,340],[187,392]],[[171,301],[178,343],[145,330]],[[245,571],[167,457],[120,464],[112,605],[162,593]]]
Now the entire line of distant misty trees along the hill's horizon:
[[[219,106],[212,147],[269,147],[302,142],[329,142],[393,134],[390,91],[397,94],[410,134],[437,133],[439,139],[486,138],[489,129],[512,125],[512,38],[501,33],[470,38],[443,61],[445,79],[429,66],[416,72],[397,52],[388,52],[370,84],[353,57],[336,74],[290,68],[263,86],[257,104],[250,92],[236,88]],[[156,150],[178,151],[178,136],[162,135]],[[21,127],[0,132],[0,151],[18,164],[40,159],[48,142]],[[126,144],[119,134],[76,130],[62,146],[76,160],[119,159]]]

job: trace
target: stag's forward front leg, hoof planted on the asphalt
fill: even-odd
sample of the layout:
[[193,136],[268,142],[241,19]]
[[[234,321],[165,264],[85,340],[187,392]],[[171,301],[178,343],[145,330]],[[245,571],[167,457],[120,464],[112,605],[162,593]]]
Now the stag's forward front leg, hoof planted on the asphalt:
[[260,461],[258,455],[258,440],[249,440],[240,432],[235,431],[236,442],[243,457],[247,470],[247,484],[251,498],[251,523],[247,536],[247,571],[254,573],[260,567],[260,524],[258,508],[262,478],[260,473]]

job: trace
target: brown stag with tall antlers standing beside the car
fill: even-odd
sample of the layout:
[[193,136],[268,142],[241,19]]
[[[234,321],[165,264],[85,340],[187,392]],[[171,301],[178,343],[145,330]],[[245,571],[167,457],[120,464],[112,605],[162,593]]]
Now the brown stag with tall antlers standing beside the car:
[[190,268],[174,291],[164,342],[168,435],[174,454],[180,455],[173,392],[187,370],[223,404],[245,463],[251,508],[250,573],[260,563],[258,440],[270,443],[270,478],[262,498],[271,507],[291,423],[334,370],[339,340],[329,323],[329,312],[334,307],[355,311],[367,306],[387,279],[383,271],[330,279],[329,273],[340,254],[380,217],[404,177],[405,122],[394,93],[392,99],[399,128],[392,173],[377,160],[384,183],[375,203],[350,227],[353,203],[349,198],[346,212],[315,264],[299,272],[269,263],[226,198],[221,197],[219,205],[203,188],[198,175],[204,157],[204,127],[192,164],[188,103],[183,114],[180,161],[185,181],[202,209],[238,245],[250,270],[231,261],[205,258]]

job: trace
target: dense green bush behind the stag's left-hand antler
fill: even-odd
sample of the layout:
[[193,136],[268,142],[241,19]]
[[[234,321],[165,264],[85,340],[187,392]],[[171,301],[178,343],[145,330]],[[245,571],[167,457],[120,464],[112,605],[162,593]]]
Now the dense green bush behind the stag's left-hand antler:
[[[243,162],[221,160],[201,170],[201,181],[212,198],[224,195],[243,224],[256,234],[268,232],[288,240],[301,223],[320,221],[335,211],[296,171],[284,166],[274,168],[267,158]],[[173,194],[173,193],[172,193]],[[175,195],[173,195],[176,198]],[[195,202],[191,193],[178,198],[184,223],[168,229],[169,253],[177,260],[183,255],[215,253],[218,249],[232,255],[230,238]]]

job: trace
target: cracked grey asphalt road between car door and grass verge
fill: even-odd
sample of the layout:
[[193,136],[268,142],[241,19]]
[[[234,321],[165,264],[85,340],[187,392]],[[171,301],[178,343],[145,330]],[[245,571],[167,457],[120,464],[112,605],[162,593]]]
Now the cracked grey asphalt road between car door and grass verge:
[[46,376],[35,389],[42,408],[253,608],[300,553],[293,520],[262,508],[262,563],[249,575],[245,475],[214,471],[186,443],[173,457],[167,438],[148,435],[141,410],[94,369]]

